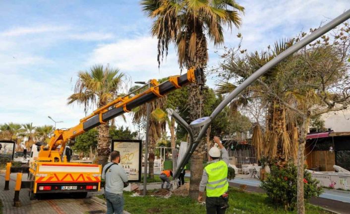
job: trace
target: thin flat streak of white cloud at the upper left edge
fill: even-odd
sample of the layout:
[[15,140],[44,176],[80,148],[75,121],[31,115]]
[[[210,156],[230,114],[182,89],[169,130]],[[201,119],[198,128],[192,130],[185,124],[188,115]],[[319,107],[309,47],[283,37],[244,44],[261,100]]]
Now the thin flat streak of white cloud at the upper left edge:
[[37,34],[46,32],[59,32],[68,30],[68,26],[36,26],[36,27],[16,27],[0,33],[0,36],[23,36],[27,34]]

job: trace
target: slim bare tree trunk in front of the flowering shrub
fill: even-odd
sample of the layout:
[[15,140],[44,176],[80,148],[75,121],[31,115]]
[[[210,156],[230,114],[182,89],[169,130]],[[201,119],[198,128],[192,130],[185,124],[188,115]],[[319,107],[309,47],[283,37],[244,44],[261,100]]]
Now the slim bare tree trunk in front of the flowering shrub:
[[306,135],[309,130],[310,116],[306,116],[303,120],[299,148],[297,155],[297,192],[296,192],[296,208],[297,214],[305,214],[305,203],[304,203],[304,150],[306,143]]

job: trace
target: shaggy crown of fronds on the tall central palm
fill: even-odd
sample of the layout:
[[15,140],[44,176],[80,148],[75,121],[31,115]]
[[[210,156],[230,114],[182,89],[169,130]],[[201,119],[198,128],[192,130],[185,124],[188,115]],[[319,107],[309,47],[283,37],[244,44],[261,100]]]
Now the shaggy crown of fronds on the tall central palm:
[[[177,48],[178,63],[182,67],[208,55],[204,33],[219,45],[224,42],[224,26],[239,27],[239,13],[244,7],[234,0],[141,0],[143,11],[154,19],[151,34],[158,39],[158,63],[168,54],[169,44]],[[201,45],[202,52],[198,53]],[[207,58],[207,57],[206,57]]]

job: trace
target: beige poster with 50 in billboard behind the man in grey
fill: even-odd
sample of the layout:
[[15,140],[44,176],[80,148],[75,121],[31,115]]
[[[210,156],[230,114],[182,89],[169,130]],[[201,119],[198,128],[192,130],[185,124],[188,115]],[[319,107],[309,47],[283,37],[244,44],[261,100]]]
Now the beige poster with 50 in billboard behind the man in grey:
[[124,168],[129,182],[141,181],[141,140],[112,140],[112,151],[120,152],[119,165]]

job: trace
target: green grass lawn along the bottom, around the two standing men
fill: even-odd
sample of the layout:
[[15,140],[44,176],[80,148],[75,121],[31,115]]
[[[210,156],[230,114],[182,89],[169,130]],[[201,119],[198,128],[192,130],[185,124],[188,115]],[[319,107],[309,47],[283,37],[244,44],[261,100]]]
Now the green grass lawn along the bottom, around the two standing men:
[[[152,195],[148,191],[147,195]],[[240,192],[230,188],[230,208],[228,214],[296,214],[296,211],[285,211],[282,207],[269,202],[266,194]],[[172,196],[169,199],[160,197],[131,197],[130,192],[124,192],[124,210],[132,214],[203,214],[205,206],[196,203],[189,197]],[[103,195],[97,196],[101,199]],[[306,205],[306,214],[330,214],[319,207]]]

